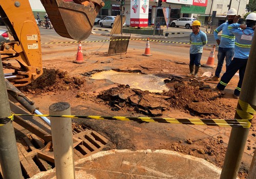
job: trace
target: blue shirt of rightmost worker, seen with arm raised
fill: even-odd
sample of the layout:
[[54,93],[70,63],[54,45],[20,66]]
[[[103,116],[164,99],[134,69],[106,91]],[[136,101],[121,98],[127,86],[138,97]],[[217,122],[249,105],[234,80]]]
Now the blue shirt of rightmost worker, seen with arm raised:
[[248,59],[254,30],[252,28],[243,30],[238,23],[229,25],[228,30],[236,36],[234,41],[234,58]]

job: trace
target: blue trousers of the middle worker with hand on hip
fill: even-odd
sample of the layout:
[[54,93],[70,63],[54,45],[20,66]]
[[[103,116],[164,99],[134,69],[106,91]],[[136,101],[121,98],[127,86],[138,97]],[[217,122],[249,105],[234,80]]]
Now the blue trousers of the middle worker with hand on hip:
[[224,59],[226,59],[226,70],[227,66],[230,64],[234,55],[234,48],[221,48],[218,50],[218,66],[215,71],[215,76],[220,77]]

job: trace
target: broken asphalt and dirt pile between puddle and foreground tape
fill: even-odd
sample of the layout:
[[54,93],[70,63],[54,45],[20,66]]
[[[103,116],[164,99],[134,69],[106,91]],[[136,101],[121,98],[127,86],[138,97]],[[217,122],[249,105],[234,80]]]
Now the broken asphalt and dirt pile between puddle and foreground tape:
[[[131,89],[129,85],[119,85],[101,92],[98,98],[111,106],[112,110],[136,111],[148,116],[162,116],[162,111],[170,108],[181,109],[192,116],[201,118],[232,119],[233,108],[215,98],[219,94],[212,92],[204,82],[176,81],[168,92],[150,93]],[[214,100],[212,100],[214,99]]]

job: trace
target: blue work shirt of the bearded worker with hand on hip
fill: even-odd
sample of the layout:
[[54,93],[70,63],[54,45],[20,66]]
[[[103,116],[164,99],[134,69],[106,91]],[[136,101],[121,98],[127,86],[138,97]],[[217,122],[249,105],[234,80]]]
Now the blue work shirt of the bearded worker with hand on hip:
[[222,25],[220,25],[217,29],[215,29],[214,31],[214,38],[215,40],[218,40],[218,33],[220,31],[222,31],[222,35],[221,35],[221,43],[220,43],[220,47],[221,48],[234,48],[234,34],[232,32],[230,32],[230,30],[228,30],[228,22],[223,23]]

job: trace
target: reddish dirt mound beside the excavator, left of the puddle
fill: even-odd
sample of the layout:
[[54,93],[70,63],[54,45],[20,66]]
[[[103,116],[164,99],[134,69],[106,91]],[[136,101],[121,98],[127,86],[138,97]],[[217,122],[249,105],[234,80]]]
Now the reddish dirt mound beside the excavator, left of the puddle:
[[21,92],[31,94],[41,94],[47,92],[59,92],[74,88],[80,88],[84,79],[79,77],[71,77],[68,72],[43,69],[44,73],[29,85],[19,87]]

